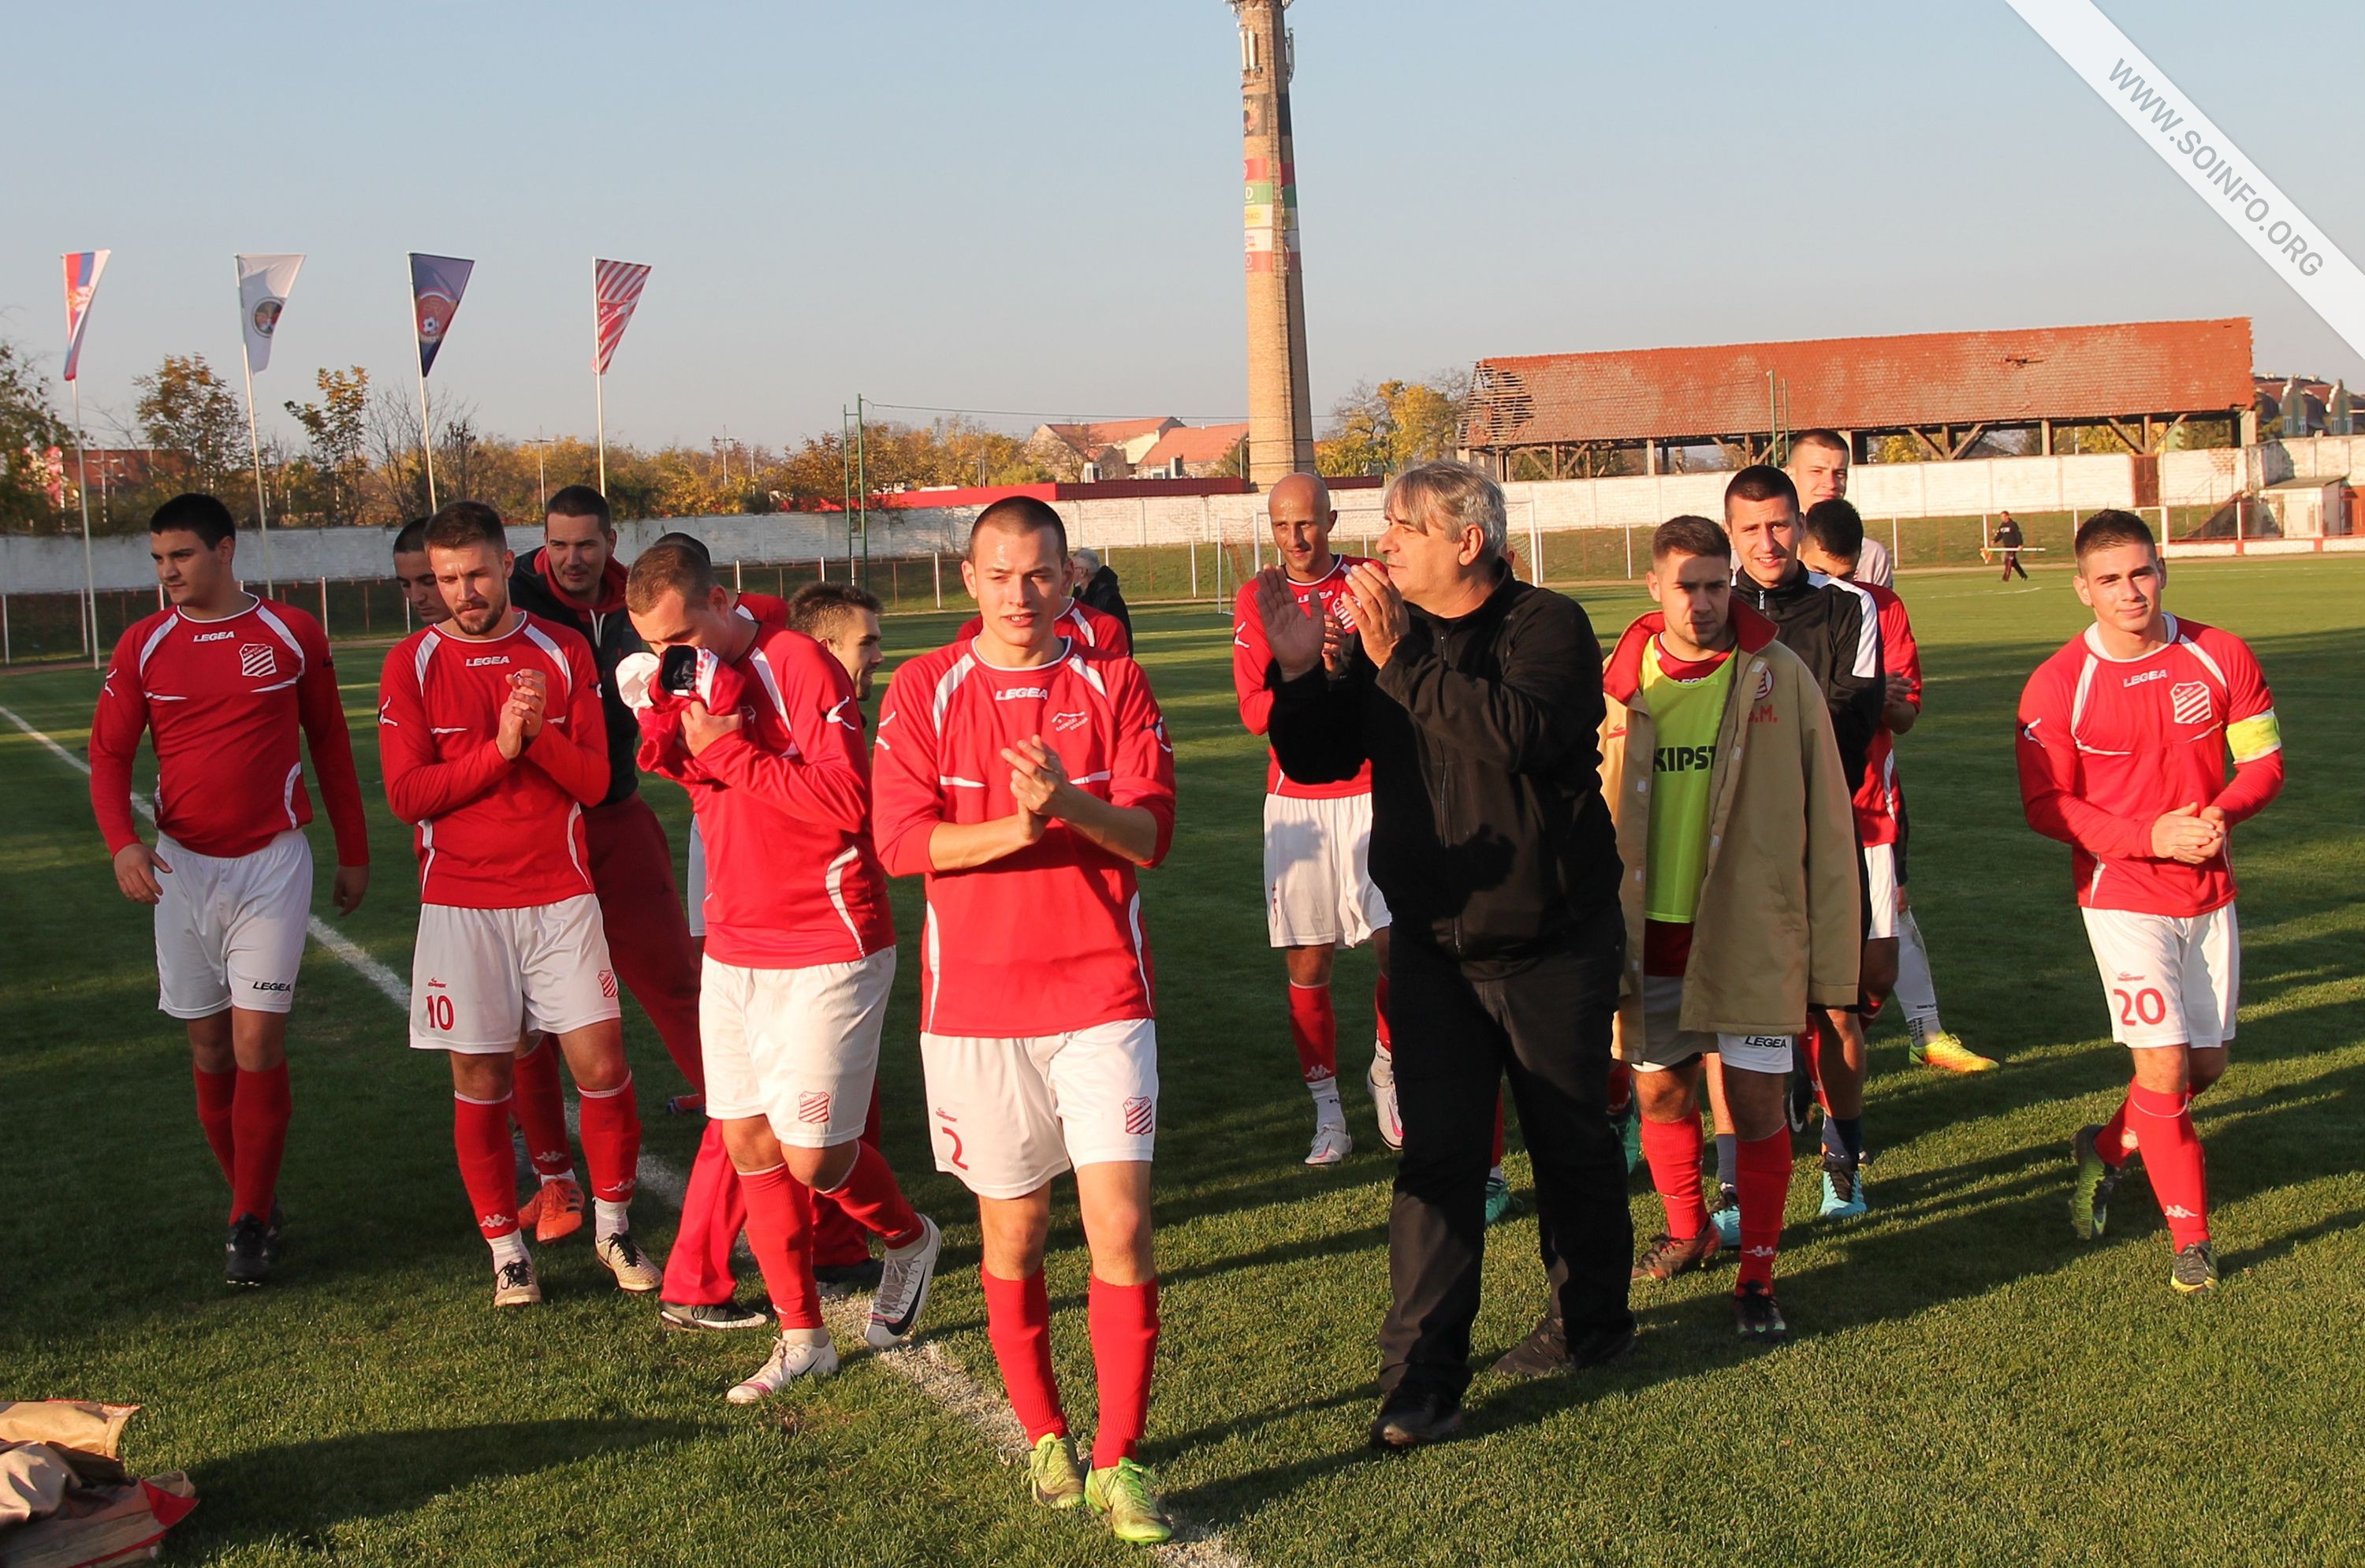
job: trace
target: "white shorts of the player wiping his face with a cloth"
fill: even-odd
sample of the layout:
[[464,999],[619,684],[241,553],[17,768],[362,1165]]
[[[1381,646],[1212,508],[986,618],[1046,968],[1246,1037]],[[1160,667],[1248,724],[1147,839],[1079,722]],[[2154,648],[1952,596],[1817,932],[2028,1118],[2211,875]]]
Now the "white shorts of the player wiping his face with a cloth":
[[764,1116],[797,1149],[851,1142],[870,1119],[894,948],[854,963],[743,970],[705,960],[698,1038],[707,1116]]

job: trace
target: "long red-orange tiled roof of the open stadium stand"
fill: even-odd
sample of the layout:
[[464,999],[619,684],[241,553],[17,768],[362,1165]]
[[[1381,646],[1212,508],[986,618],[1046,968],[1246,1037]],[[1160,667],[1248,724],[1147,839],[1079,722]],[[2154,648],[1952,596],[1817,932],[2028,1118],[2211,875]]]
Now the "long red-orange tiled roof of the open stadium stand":
[[1767,371],[1790,430],[2225,416],[2251,402],[2249,319],[1932,331],[1480,359],[1469,447],[1764,435]]

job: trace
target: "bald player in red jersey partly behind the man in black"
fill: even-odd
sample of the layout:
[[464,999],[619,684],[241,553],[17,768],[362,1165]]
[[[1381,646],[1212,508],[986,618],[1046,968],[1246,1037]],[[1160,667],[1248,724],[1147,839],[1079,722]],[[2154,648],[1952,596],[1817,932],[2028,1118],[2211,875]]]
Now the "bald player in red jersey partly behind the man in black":
[[[1346,650],[1339,636],[1353,620],[1355,601],[1346,575],[1360,556],[1331,553],[1339,523],[1329,485],[1313,473],[1277,480],[1265,497],[1272,553],[1282,563],[1298,608],[1331,627],[1334,660]],[[1239,584],[1232,603],[1232,693],[1239,721],[1263,736],[1272,721],[1265,669],[1265,617],[1256,608],[1256,579]],[[1289,1038],[1298,1048],[1298,1076],[1315,1097],[1315,1142],[1308,1166],[1336,1166],[1355,1147],[1339,1104],[1339,1017],[1331,1007],[1331,960],[1339,946],[1372,941],[1379,958],[1379,1043],[1365,1083],[1379,1109],[1379,1138],[1391,1149],[1405,1145],[1395,1114],[1395,1064],[1388,1060],[1388,901],[1372,885],[1372,769],[1343,783],[1301,785],[1265,757],[1265,929],[1289,967]]]

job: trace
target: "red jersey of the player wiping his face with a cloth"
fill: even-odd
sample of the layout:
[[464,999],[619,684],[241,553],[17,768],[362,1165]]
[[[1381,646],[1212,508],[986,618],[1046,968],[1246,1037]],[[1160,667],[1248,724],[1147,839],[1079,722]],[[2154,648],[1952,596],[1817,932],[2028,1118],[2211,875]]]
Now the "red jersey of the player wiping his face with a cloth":
[[854,681],[804,631],[757,622],[738,660],[698,655],[698,698],[740,728],[698,757],[686,702],[650,693],[641,769],[691,792],[707,847],[707,953],[745,970],[854,963],[894,946],[870,844],[870,759]]

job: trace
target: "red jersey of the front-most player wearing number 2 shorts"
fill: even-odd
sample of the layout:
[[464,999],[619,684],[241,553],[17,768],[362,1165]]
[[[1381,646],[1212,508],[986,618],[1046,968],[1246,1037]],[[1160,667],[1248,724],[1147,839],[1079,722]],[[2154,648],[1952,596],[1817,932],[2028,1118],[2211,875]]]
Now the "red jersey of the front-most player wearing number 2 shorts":
[[970,639],[906,662],[880,705],[877,840],[899,877],[927,875],[920,1029],[1022,1038],[1154,1017],[1149,939],[1133,863],[1050,823],[1026,849],[970,870],[934,870],[937,823],[1017,811],[1003,747],[1029,736],[1069,780],[1142,806],[1166,856],[1175,759],[1149,679],[1128,657],[998,669]]

